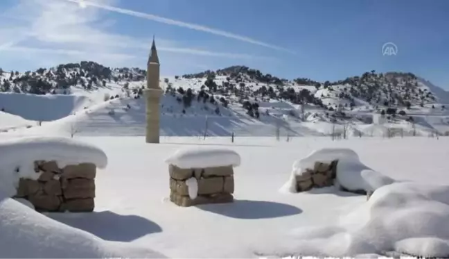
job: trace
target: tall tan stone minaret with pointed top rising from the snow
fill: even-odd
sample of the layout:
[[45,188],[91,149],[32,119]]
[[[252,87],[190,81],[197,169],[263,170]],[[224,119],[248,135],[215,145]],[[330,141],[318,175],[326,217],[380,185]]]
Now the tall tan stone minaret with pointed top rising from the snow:
[[159,143],[159,103],[162,90],[159,87],[159,57],[157,56],[155,37],[147,63],[147,87],[143,91],[146,97],[146,142]]

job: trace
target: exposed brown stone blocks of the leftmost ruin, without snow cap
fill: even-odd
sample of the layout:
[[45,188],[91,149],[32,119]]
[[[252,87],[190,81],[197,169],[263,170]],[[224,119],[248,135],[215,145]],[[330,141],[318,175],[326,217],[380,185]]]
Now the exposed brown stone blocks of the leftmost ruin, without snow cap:
[[37,181],[21,178],[15,197],[24,198],[41,212],[94,210],[96,166],[91,163],[59,168],[55,161],[35,161]]

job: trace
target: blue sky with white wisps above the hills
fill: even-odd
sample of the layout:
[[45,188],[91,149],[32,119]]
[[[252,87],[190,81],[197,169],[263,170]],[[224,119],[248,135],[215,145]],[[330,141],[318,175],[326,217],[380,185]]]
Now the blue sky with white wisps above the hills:
[[[92,4],[93,3],[93,4]],[[283,78],[413,72],[449,89],[448,0],[1,0],[0,67],[94,60],[162,74],[247,65]],[[383,56],[394,42],[396,56]]]

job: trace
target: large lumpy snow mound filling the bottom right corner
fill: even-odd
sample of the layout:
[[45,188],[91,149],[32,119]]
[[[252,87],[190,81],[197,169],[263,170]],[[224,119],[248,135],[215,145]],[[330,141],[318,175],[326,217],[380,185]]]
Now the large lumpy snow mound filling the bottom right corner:
[[336,226],[292,231],[267,254],[342,257],[396,251],[447,257],[448,220],[449,186],[392,183],[376,190]]

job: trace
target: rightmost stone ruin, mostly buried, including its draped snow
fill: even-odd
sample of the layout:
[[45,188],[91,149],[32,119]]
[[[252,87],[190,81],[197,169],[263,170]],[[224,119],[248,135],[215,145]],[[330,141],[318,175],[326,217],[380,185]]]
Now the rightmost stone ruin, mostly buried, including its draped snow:
[[290,179],[283,192],[306,192],[313,188],[336,185],[341,190],[367,195],[378,187],[393,183],[360,162],[351,149],[320,149],[293,164]]

